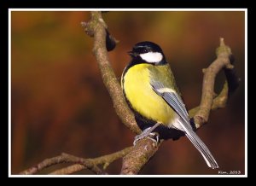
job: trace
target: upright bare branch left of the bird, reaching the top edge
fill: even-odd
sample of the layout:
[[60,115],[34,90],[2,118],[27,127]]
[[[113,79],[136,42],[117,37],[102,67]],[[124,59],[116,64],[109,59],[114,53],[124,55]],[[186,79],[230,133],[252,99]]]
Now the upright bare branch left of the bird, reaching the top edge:
[[138,134],[141,130],[137,127],[134,115],[125,102],[125,97],[108,59],[106,38],[110,35],[107,35],[106,32],[107,25],[102,19],[101,12],[91,12],[90,16],[90,21],[82,23],[82,26],[84,26],[85,32],[94,38],[93,53],[101,70],[103,82],[112,98],[113,107],[119,119],[131,131]]

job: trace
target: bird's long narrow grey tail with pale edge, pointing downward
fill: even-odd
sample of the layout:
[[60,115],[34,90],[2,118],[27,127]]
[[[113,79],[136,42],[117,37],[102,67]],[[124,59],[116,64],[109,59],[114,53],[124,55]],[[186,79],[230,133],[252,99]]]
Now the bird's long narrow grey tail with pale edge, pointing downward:
[[182,126],[183,131],[185,132],[186,136],[189,138],[190,142],[193,143],[195,148],[201,153],[202,157],[206,160],[207,166],[211,167],[212,169],[217,169],[218,164],[216,160],[213,158],[210,150],[207,148],[204,142],[196,135],[195,131],[192,130],[191,127],[187,125],[183,125],[182,122],[179,122]]

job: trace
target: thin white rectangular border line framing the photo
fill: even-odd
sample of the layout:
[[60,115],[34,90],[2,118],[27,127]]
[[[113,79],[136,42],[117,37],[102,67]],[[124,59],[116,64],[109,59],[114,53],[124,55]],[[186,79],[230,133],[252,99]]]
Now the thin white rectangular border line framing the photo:
[[[11,12],[12,11],[242,11],[245,13],[245,175],[12,175],[11,174]],[[247,9],[9,9],[9,177],[247,177]]]

